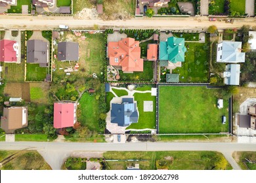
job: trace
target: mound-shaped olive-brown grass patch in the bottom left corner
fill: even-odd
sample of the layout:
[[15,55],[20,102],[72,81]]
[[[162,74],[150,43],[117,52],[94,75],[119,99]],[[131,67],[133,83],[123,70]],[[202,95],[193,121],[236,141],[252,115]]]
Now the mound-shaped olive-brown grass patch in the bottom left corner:
[[20,152],[16,158],[12,159],[2,170],[51,170],[43,157],[36,151]]

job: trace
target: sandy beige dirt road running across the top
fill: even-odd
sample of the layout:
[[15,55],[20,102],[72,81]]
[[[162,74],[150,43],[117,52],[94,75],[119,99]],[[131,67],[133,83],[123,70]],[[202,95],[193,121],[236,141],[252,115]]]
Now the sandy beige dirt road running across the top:
[[[64,23],[60,23],[64,22]],[[152,22],[154,22],[152,24]],[[219,29],[239,28],[242,25],[256,25],[255,18],[246,18],[234,20],[234,24],[225,23],[224,21],[209,22],[205,16],[189,18],[135,18],[131,20],[77,20],[73,17],[37,17],[37,16],[0,16],[0,29],[53,29],[59,24],[66,24],[71,29],[86,29],[98,25],[100,28],[138,28],[141,29],[207,29],[210,25],[217,25]]]

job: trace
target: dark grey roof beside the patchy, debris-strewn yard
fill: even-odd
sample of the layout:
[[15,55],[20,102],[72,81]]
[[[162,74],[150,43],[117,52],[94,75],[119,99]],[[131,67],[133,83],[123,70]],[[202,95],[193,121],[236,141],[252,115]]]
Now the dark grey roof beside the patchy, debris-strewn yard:
[[78,59],[78,42],[58,42],[58,60],[78,61]]

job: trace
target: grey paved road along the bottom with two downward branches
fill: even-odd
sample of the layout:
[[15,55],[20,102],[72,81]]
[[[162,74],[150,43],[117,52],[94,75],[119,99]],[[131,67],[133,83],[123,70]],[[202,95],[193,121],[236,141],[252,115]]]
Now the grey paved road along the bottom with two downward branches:
[[234,169],[240,169],[232,158],[234,151],[256,151],[256,144],[232,142],[137,142],[137,143],[78,143],[78,142],[0,142],[0,150],[37,150],[53,169],[60,169],[65,158],[74,151],[167,151],[209,150],[224,154]]

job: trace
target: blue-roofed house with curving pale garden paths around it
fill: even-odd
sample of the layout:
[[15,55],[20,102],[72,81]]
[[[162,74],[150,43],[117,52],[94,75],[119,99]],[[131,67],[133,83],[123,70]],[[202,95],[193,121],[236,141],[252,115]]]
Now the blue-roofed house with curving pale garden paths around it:
[[139,120],[137,101],[134,101],[134,97],[124,97],[121,103],[112,103],[110,110],[113,124],[125,127]]

